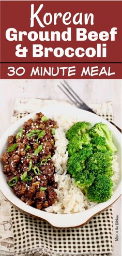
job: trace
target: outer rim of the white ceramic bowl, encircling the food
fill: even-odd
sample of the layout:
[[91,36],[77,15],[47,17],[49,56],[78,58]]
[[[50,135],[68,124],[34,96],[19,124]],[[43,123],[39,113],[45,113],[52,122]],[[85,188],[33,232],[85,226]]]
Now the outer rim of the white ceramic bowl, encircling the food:
[[[0,143],[1,145],[4,145],[5,147],[5,140],[7,139],[8,135],[16,132],[17,129],[19,129],[19,127],[29,118],[33,118],[35,116],[35,114],[37,112],[44,112],[44,109],[48,111],[48,108],[50,109],[55,109],[55,107],[58,108],[64,108],[64,109],[69,109],[70,111],[72,110],[72,112],[74,111],[80,111],[79,113],[84,115],[90,115],[91,117],[95,117],[96,114],[88,112],[86,110],[82,110],[82,109],[78,109],[75,108],[73,106],[71,106],[70,104],[66,104],[66,103],[53,103],[53,104],[49,104],[46,105],[44,107],[42,107],[41,109],[39,109],[36,112],[33,112],[21,119],[19,119],[17,122],[13,123],[6,132],[4,132],[4,134],[2,135],[1,139],[0,139]],[[46,111],[45,111],[46,112]],[[86,118],[87,119],[87,118]],[[94,118],[93,118],[94,119]],[[121,133],[108,121],[106,121],[104,118],[100,117],[97,115],[97,119],[101,119],[101,122],[109,124],[109,126],[112,128],[112,130],[115,131],[116,134],[118,134],[118,137],[121,136]],[[110,128],[110,129],[111,129]],[[121,146],[121,144],[119,143],[119,145]],[[1,152],[1,148],[0,148],[0,152]],[[2,154],[2,152],[1,152]],[[3,170],[0,170],[3,173]],[[5,177],[6,175],[3,173],[2,177]],[[104,209],[108,208],[111,204],[113,204],[120,196],[121,194],[121,183],[118,184],[117,188],[116,188],[116,194],[114,195],[114,197],[112,196],[112,198],[104,203],[100,203],[97,204],[95,206],[93,206],[92,208],[89,208],[87,210],[84,210],[83,212],[80,213],[73,213],[73,214],[54,214],[54,213],[48,213],[48,212],[44,212],[42,210],[38,210],[32,206],[28,206],[26,205],[24,202],[22,202],[19,198],[17,198],[17,196],[11,191],[12,189],[8,186],[8,184],[5,182],[5,178],[2,178],[2,180],[4,180],[3,183],[0,184],[0,189],[2,191],[2,193],[4,194],[4,196],[6,197],[6,199],[13,204],[16,208],[19,208],[22,212],[25,212],[26,214],[32,215],[36,218],[40,218],[43,219],[44,221],[47,221],[48,223],[50,223],[53,227],[56,228],[73,228],[73,227],[81,227],[82,225],[86,224],[87,221],[89,219],[91,219],[93,216],[95,216],[96,214],[102,212]],[[6,189],[5,189],[6,188]],[[8,189],[7,189],[8,188]],[[12,195],[11,195],[12,192]],[[114,194],[114,193],[113,193]],[[104,204],[104,207],[102,207],[102,205]],[[37,214],[38,211],[38,214]],[[91,212],[91,214],[89,213]],[[40,213],[40,214],[39,214]],[[86,216],[84,213],[87,213]],[[59,216],[59,217],[57,217]],[[67,217],[68,216],[68,217]],[[81,220],[75,220],[75,224],[72,223],[72,219],[74,216],[81,216]],[[64,218],[65,217],[65,218]],[[69,218],[70,217],[70,218]],[[58,223],[58,219],[61,220]],[[69,218],[69,219],[68,219]],[[77,219],[77,218],[75,218]],[[69,221],[70,220],[70,221]]]

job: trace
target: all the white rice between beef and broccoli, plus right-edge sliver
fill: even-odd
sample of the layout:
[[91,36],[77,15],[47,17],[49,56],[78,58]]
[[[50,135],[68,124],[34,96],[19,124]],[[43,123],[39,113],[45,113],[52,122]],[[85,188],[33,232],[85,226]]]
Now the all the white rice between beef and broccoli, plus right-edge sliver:
[[[97,204],[95,202],[89,202],[81,189],[74,185],[74,179],[71,178],[69,174],[66,174],[68,162],[68,140],[66,139],[65,133],[79,120],[72,117],[58,117],[55,118],[55,120],[58,120],[57,125],[59,128],[56,129],[54,135],[56,149],[52,160],[54,162],[56,172],[55,182],[57,182],[58,185],[58,189],[55,189],[57,193],[57,201],[45,210],[49,213],[57,214],[79,213]],[[112,176],[114,188],[119,177],[119,165],[116,155],[114,155],[112,168],[114,171],[114,175]]]

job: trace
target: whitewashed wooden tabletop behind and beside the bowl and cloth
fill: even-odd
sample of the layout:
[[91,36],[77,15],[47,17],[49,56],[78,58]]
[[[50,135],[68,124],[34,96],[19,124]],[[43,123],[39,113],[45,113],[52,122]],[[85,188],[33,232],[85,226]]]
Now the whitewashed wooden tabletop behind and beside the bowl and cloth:
[[[67,80],[75,92],[87,103],[112,101],[114,122],[121,126],[121,80]],[[17,97],[67,99],[57,87],[59,80],[0,80],[0,136],[9,127]],[[121,255],[121,200],[114,203],[113,256]],[[115,219],[119,216],[119,241],[115,241]]]

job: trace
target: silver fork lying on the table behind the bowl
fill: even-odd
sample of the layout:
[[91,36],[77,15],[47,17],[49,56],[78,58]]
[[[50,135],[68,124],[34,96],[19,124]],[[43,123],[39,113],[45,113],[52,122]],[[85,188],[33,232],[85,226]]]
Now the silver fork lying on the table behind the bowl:
[[[78,96],[78,94],[76,94],[73,89],[70,87],[70,85],[65,81],[63,80],[63,82],[60,82],[61,86],[60,85],[57,85],[63,92],[64,94],[75,104],[75,106],[77,106],[79,109],[83,109],[83,110],[87,110],[91,113],[94,113],[96,114],[92,109],[90,109],[87,104]],[[97,114],[96,114],[97,115]],[[121,132],[121,129],[115,125],[113,122],[110,121],[110,123],[112,125],[114,125],[120,132]]]

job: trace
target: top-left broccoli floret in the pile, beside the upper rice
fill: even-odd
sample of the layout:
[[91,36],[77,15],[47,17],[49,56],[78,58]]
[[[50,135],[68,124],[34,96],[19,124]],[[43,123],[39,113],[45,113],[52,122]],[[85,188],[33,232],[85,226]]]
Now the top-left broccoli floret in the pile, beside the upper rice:
[[66,132],[66,138],[70,140],[76,134],[81,135],[89,131],[91,124],[88,122],[77,122]]

